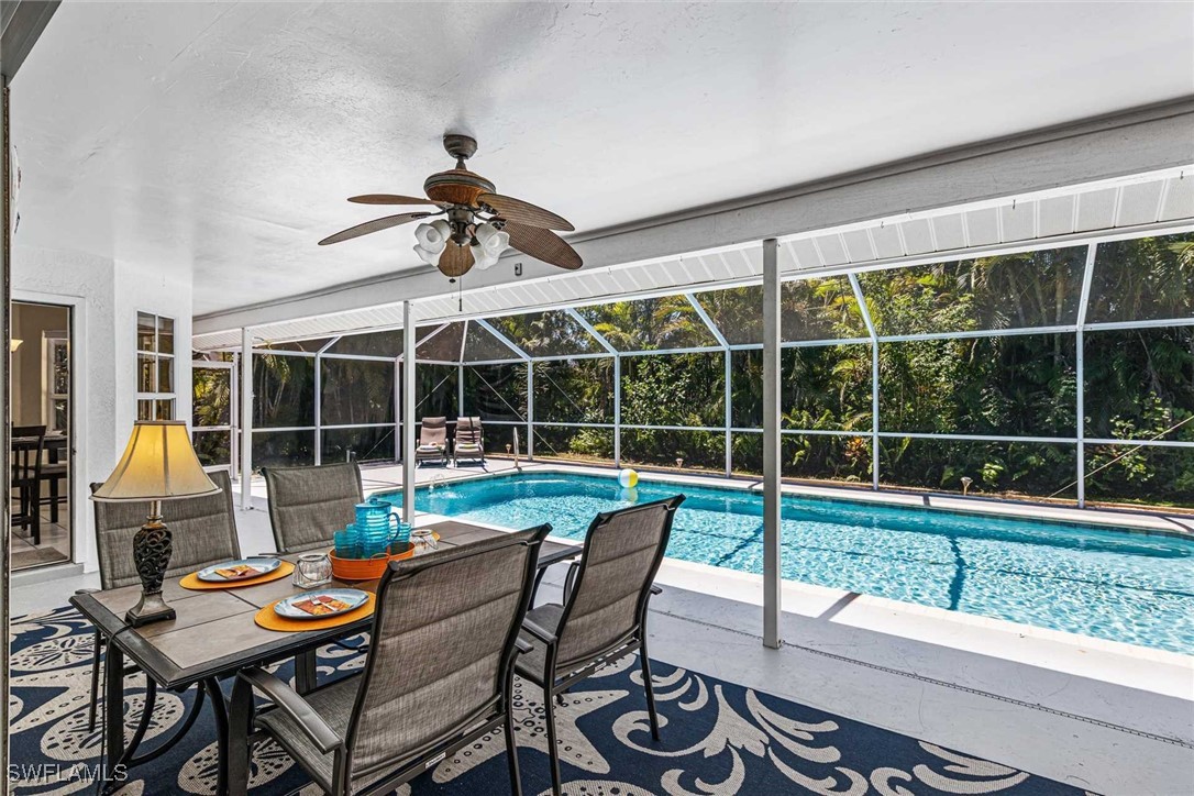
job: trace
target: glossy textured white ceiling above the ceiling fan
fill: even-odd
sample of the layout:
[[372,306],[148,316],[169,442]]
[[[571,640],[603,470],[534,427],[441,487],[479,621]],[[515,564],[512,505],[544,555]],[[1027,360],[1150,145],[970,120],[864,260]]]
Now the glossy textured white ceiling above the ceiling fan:
[[417,266],[315,241],[448,130],[591,230],[1186,95],[1192,54],[1190,4],[68,2],[13,84],[18,240],[193,269],[201,314]]

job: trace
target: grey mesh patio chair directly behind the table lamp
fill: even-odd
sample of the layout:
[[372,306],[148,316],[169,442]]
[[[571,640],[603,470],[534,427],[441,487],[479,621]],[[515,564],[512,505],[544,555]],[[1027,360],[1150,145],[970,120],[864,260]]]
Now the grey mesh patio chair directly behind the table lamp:
[[[201,498],[166,500],[161,504],[162,520],[170,527],[173,553],[166,578],[178,578],[196,569],[240,559],[236,516],[233,513],[232,481],[228,473],[209,473],[221,492]],[[91,490],[100,487],[92,483]],[[141,582],[133,562],[133,536],[146,524],[149,502],[99,502],[96,508],[96,539],[99,553],[100,588],[119,588]],[[88,590],[85,590],[88,591]],[[96,729],[96,704],[99,693],[99,653],[104,636],[96,630],[91,660],[91,706],[87,727]],[[136,671],[130,667],[129,671]]]

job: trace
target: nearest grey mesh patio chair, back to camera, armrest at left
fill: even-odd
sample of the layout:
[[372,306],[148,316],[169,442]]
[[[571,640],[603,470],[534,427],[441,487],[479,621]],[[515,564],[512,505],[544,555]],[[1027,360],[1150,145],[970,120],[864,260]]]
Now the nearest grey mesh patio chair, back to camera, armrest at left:
[[[247,792],[251,733],[270,735],[327,794],[382,794],[504,727],[521,794],[513,658],[550,525],[389,564],[358,674],[306,697],[261,668],[233,686],[229,792]],[[254,712],[253,690],[272,706]]]

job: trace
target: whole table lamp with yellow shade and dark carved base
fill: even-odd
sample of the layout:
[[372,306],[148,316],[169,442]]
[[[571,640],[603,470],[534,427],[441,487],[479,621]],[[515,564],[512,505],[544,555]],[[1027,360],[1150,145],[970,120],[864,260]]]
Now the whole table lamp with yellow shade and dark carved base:
[[141,600],[124,615],[131,627],[174,618],[174,609],[166,605],[161,596],[161,581],[173,553],[170,529],[161,522],[161,501],[216,492],[220,487],[203,471],[185,422],[144,420],[134,424],[119,463],[91,496],[103,502],[149,501],[146,524],[133,537],[133,562],[141,578]]

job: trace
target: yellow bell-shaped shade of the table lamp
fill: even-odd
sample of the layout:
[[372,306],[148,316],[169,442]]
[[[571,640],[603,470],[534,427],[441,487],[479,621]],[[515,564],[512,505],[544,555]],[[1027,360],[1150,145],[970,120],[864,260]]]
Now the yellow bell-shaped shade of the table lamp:
[[133,426],[119,463],[92,500],[176,500],[220,492],[203,471],[181,420]]

